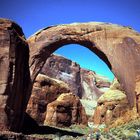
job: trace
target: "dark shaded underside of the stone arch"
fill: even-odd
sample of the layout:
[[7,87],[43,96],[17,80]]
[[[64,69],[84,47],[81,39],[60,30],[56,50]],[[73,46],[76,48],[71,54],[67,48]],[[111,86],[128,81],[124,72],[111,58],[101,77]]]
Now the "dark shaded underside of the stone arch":
[[[67,39],[67,40],[62,40],[62,41],[56,41],[56,42],[53,42],[52,44],[47,44],[48,45],[47,47],[43,45],[42,50],[40,50],[39,54],[36,54],[32,57],[32,59],[34,59],[34,60],[37,59],[37,61],[30,60],[32,62],[30,65],[30,69],[31,69],[31,71],[33,71],[32,76],[31,76],[32,81],[34,82],[36,76],[41,71],[47,58],[51,54],[53,54],[59,48],[63,48],[63,46],[71,45],[71,44],[81,45],[82,47],[87,48],[88,50],[93,52],[95,55],[97,55],[108,66],[110,71],[112,71],[112,65],[111,65],[108,57],[106,56],[106,54],[103,51],[101,51],[95,45],[95,43],[87,41],[87,40],[75,41],[75,40]],[[38,68],[36,69],[36,67],[38,67]]]

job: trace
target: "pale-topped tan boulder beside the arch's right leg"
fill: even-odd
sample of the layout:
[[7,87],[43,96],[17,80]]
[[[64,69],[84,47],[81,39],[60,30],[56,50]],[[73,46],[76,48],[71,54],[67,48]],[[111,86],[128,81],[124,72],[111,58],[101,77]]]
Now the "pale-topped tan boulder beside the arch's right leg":
[[98,99],[93,117],[95,124],[109,124],[130,109],[125,93],[119,89],[120,85],[115,79],[111,88]]

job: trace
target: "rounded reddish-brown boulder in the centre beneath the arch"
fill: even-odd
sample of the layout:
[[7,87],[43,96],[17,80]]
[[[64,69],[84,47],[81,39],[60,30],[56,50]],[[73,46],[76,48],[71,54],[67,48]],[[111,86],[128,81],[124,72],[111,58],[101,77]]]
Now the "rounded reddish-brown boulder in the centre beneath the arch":
[[54,126],[87,125],[87,116],[79,98],[72,93],[65,93],[48,104],[44,123]]

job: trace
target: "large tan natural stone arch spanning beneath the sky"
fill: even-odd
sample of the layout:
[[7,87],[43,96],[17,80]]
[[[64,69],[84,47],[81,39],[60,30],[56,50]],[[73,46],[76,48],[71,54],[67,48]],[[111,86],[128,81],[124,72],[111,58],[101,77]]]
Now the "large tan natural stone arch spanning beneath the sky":
[[131,107],[135,106],[136,94],[140,92],[139,33],[115,24],[74,23],[42,29],[28,43],[32,82],[55,50],[66,44],[80,44],[108,65],[126,91]]

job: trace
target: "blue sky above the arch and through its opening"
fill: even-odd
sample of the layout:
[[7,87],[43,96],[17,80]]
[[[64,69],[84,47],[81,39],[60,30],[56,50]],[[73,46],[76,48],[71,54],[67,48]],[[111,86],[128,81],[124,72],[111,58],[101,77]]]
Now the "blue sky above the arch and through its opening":
[[[17,22],[26,37],[46,26],[89,21],[131,26],[140,32],[140,0],[0,0],[0,17]],[[84,47],[68,45],[56,53],[113,78],[107,66]]]

